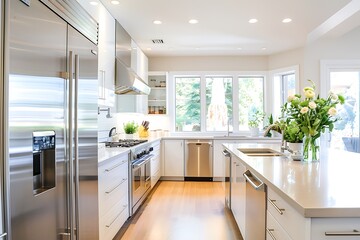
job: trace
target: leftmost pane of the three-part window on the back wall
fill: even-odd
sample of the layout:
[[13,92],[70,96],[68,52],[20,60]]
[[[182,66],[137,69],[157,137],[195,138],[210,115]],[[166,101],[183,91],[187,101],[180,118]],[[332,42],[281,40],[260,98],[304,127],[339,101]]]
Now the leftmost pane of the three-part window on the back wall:
[[176,131],[198,132],[200,125],[200,77],[175,78]]

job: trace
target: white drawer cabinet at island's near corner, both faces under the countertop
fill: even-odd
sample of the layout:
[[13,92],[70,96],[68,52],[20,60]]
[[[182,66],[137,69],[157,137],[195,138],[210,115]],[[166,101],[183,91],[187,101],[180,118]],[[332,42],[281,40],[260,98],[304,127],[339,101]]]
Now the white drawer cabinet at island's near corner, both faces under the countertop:
[[358,217],[305,218],[268,187],[267,240],[358,240],[359,223]]

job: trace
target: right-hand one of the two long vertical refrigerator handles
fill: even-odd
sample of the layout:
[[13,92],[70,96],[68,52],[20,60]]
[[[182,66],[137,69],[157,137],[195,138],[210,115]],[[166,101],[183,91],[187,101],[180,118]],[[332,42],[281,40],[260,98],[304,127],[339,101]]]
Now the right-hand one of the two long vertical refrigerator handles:
[[79,136],[78,136],[78,86],[79,86],[79,55],[75,54],[75,83],[74,83],[74,153],[75,153],[75,223],[76,239],[79,236]]

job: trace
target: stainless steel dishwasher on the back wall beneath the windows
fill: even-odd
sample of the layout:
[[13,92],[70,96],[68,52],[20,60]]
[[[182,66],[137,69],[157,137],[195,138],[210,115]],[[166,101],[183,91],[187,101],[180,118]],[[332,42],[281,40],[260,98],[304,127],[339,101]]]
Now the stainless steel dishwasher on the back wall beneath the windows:
[[212,166],[212,140],[185,141],[185,181],[212,181]]

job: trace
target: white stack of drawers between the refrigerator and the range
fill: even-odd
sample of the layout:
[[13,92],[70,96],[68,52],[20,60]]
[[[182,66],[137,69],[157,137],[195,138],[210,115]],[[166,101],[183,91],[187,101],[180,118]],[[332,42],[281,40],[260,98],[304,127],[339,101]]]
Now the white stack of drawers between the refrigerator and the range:
[[99,173],[99,232],[111,240],[129,217],[129,156],[107,160]]

